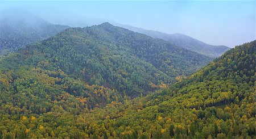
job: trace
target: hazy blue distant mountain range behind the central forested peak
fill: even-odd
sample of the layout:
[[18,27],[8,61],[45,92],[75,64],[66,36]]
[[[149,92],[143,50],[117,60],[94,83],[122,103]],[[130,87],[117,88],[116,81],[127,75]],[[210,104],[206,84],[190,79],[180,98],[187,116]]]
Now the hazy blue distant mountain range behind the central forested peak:
[[[58,24],[51,24],[30,12],[20,10],[2,10],[0,11],[0,56],[6,55],[22,48],[26,45],[36,43],[40,40],[47,39],[56,33],[69,28]],[[64,19],[61,19],[64,20]],[[72,27],[86,27],[93,24],[104,22],[104,19],[84,18],[74,19],[72,23],[64,22]],[[61,21],[60,21],[61,22]],[[226,50],[230,49],[225,46],[213,46],[205,44],[192,37],[176,34],[167,34],[159,31],[144,30],[142,28],[127,26],[115,22],[110,22],[115,26],[123,27],[131,31],[143,33],[145,35],[166,40],[173,45],[192,50],[212,58],[220,56]]]

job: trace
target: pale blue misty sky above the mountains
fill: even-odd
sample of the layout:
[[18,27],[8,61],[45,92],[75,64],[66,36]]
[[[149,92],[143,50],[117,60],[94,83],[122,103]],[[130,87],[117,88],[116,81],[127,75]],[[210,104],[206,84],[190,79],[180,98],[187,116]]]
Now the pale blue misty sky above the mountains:
[[234,47],[255,39],[255,1],[0,1],[51,23],[90,17]]

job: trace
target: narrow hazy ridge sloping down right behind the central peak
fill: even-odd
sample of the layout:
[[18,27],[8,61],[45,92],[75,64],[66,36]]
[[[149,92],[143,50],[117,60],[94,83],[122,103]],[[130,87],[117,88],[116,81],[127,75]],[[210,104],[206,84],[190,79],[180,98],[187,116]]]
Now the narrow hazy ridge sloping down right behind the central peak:
[[119,27],[127,28],[128,30],[131,30],[131,31],[143,33],[154,38],[168,41],[179,47],[192,50],[193,52],[204,54],[205,56],[209,56],[212,58],[221,56],[221,54],[223,54],[226,50],[230,49],[229,47],[226,47],[223,45],[220,45],[220,46],[209,45],[209,44],[203,43],[202,41],[193,39],[192,37],[189,37],[187,35],[183,35],[180,33],[167,34],[159,31],[144,30],[142,28],[137,28],[137,27],[118,24],[118,23],[114,23],[114,24]]

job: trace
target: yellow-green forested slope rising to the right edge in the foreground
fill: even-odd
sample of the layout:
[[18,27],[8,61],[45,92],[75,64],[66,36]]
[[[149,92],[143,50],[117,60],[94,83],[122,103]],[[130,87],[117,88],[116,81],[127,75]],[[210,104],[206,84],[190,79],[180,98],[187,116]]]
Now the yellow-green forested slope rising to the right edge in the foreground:
[[94,130],[86,135],[255,138],[255,44],[229,50],[169,89],[84,113],[80,118],[90,120],[81,125]]

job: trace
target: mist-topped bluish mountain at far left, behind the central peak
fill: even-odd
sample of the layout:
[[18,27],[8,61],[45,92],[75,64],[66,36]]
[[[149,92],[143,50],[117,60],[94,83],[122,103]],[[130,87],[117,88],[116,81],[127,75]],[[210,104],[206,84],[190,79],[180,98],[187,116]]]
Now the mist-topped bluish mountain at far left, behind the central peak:
[[21,10],[0,11],[0,57],[69,28]]

